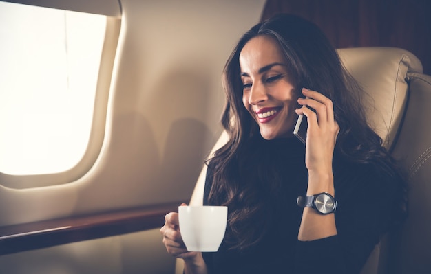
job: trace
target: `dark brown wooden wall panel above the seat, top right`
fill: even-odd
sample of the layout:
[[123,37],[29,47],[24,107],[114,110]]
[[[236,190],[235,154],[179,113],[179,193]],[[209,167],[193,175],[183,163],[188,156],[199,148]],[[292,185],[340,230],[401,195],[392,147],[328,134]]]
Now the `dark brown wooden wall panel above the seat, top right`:
[[262,20],[280,12],[313,21],[337,48],[407,49],[431,75],[431,1],[267,0]]

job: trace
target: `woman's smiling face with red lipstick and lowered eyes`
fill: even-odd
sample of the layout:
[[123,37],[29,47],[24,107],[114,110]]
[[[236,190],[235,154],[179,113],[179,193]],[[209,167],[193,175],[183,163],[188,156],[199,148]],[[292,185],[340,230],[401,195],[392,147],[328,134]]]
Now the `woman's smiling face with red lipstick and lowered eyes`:
[[240,52],[242,102],[264,139],[293,136],[299,94],[277,42],[257,36]]

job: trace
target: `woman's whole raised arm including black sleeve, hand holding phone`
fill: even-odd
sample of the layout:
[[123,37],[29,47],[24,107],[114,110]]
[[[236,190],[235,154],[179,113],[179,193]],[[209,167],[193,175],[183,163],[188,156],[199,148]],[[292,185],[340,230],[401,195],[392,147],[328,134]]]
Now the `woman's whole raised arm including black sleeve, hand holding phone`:
[[[379,237],[400,214],[397,205],[403,194],[402,179],[375,164],[337,159],[333,165],[337,126],[331,126],[332,106],[314,91],[304,91],[304,95],[317,101],[298,100],[299,104],[316,109],[315,114],[306,108],[297,110],[298,114],[308,114],[310,120],[306,144],[306,194],[337,194],[338,198],[333,196],[339,204],[335,214],[320,215],[315,209],[304,209],[295,267],[298,273],[315,273],[319,266],[326,266],[328,273],[359,273]],[[322,114],[325,111],[326,116]],[[325,130],[326,135],[322,134]],[[331,133],[332,130],[335,131]]]

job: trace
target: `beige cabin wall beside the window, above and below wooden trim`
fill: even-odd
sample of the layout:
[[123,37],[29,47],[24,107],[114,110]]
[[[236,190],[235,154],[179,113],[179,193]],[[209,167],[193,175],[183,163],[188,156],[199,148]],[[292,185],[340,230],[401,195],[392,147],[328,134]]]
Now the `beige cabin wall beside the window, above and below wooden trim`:
[[[187,201],[221,132],[224,62],[263,6],[121,1],[101,154],[76,181],[28,189],[0,182],[0,225]],[[158,229],[0,256],[8,274],[173,271]]]

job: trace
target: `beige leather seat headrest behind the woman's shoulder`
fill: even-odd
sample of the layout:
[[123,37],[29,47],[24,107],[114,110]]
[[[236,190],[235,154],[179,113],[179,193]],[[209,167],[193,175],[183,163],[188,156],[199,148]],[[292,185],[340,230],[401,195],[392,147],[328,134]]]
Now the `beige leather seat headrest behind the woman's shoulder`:
[[367,94],[364,107],[368,124],[390,149],[408,100],[408,75],[422,73],[421,62],[414,54],[394,47],[356,47],[337,52]]

